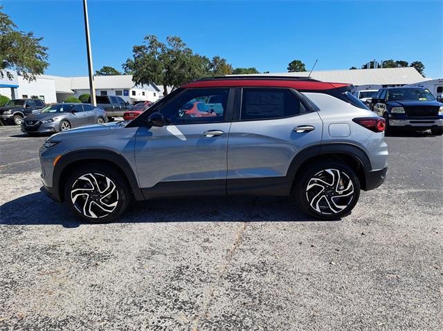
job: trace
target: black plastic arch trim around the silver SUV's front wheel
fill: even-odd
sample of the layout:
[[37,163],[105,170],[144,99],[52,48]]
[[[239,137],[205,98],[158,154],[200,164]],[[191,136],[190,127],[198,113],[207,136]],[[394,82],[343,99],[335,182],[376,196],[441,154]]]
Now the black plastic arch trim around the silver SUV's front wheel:
[[64,187],[69,173],[78,167],[89,164],[108,164],[123,173],[135,200],[144,200],[141,189],[138,187],[136,175],[129,162],[114,151],[103,151],[102,149],[89,149],[73,151],[60,158],[53,171],[53,187],[56,188],[60,201],[64,200]]

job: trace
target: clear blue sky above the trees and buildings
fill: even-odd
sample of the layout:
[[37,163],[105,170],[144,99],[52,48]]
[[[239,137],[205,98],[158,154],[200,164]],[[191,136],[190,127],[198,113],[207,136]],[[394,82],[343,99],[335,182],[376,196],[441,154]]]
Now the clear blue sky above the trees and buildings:
[[[82,0],[1,1],[20,30],[44,37],[47,74],[87,75]],[[443,77],[443,1],[89,0],[94,69],[121,64],[143,36],[177,35],[200,55],[234,67],[284,72],[293,59],[316,70],[371,59],[422,61]]]

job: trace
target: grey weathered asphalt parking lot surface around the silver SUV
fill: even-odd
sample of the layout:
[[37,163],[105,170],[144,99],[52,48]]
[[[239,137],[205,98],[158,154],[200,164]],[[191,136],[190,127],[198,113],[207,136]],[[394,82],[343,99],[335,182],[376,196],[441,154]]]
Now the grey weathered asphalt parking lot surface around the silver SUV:
[[285,198],[152,200],[80,224],[39,191],[44,137],[0,126],[0,330],[441,330],[441,137],[387,138],[352,215]]

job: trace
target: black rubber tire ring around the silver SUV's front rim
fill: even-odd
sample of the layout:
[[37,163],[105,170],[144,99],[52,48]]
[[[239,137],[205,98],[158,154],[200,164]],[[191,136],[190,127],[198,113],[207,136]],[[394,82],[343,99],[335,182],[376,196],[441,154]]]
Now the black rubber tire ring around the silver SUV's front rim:
[[[105,175],[109,179],[111,179],[116,185],[116,188],[118,190],[118,205],[116,209],[114,209],[114,211],[112,211],[112,213],[109,214],[108,216],[102,218],[90,218],[80,213],[73,205],[73,202],[71,201],[71,187],[73,186],[75,180],[77,180],[80,176],[86,173],[99,173],[101,175]],[[75,214],[75,216],[81,218],[87,223],[96,223],[96,224],[110,223],[113,220],[116,220],[116,218],[118,218],[118,216],[120,216],[123,213],[123,211],[125,211],[131,200],[129,193],[129,186],[127,185],[126,180],[122,176],[120,176],[119,173],[114,171],[114,169],[102,164],[81,167],[80,169],[73,172],[72,175],[69,177],[69,179],[66,181],[66,186],[64,188],[64,198],[66,200],[67,205],[69,206],[69,209],[71,209],[71,211],[73,212],[73,214]]]

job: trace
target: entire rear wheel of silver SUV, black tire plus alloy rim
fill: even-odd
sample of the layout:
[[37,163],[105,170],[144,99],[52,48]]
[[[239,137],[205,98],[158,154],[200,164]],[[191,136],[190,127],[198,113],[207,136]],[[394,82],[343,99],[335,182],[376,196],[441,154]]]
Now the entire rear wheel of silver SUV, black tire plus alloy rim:
[[360,182],[346,164],[325,161],[301,170],[293,195],[305,213],[321,220],[334,220],[354,209],[360,196]]

